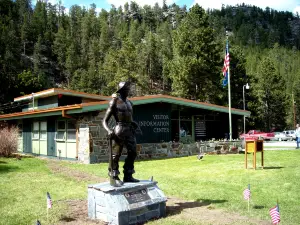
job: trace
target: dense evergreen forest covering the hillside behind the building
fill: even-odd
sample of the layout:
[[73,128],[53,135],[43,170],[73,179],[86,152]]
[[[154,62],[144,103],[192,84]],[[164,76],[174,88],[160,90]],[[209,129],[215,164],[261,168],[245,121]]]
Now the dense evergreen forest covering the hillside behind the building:
[[252,5],[221,10],[128,2],[96,11],[38,0],[0,1],[0,112],[13,98],[59,87],[111,95],[167,94],[228,106],[222,67],[229,41],[231,105],[251,111],[248,129],[300,121],[300,18]]

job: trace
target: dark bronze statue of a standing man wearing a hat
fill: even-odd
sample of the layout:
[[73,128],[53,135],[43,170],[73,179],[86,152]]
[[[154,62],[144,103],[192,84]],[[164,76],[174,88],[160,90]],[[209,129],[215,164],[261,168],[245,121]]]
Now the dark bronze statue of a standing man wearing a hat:
[[[134,179],[132,174],[134,171],[134,160],[136,158],[136,139],[135,131],[138,128],[136,122],[132,119],[132,102],[127,99],[130,91],[129,82],[119,83],[118,96],[113,96],[109,102],[108,109],[103,119],[103,127],[108,132],[110,138],[110,163],[108,174],[110,176],[110,185],[120,187],[123,182],[119,178],[119,158],[122,154],[123,147],[127,149],[127,157],[123,166],[124,182],[139,182]],[[108,127],[108,121],[114,117],[116,126],[113,129]],[[111,145],[113,140],[113,145]]]

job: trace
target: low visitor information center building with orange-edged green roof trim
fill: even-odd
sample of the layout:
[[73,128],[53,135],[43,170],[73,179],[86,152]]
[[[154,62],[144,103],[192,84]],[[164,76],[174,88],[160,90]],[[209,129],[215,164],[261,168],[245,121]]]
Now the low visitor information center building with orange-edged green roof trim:
[[[108,141],[102,119],[109,100],[109,96],[53,88],[15,98],[22,111],[0,115],[0,121],[19,127],[20,152],[85,163],[106,161]],[[138,147],[147,156],[154,149],[161,149],[158,156],[167,156],[166,146],[174,141],[195,143],[228,135],[228,107],[167,95],[130,100],[142,131]],[[233,108],[231,112],[233,138],[237,138],[238,121],[250,112]]]

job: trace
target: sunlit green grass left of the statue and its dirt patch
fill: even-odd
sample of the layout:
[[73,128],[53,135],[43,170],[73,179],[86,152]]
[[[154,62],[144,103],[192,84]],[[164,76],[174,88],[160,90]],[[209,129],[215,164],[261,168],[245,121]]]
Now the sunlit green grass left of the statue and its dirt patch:
[[[86,184],[52,174],[46,161],[36,158],[0,158],[0,224],[42,224],[47,221],[46,193],[54,201],[84,198]],[[61,215],[64,204],[49,210],[48,222]],[[43,221],[45,221],[43,223]]]

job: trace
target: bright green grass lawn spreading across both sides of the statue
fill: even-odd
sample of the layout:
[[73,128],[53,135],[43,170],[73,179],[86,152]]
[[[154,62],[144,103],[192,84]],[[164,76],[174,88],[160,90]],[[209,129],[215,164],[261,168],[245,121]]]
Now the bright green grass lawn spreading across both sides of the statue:
[[[248,167],[251,168],[249,154]],[[260,156],[260,154],[258,154]],[[282,224],[300,224],[300,151],[265,151],[265,169],[244,169],[244,155],[206,155],[136,161],[135,177],[154,177],[166,196],[209,203],[213,208],[270,220],[269,209],[278,199]],[[73,170],[107,177],[107,163],[83,165],[62,162]],[[121,165],[122,166],[122,163]],[[250,214],[242,192],[251,185]],[[33,224],[38,216],[46,221],[46,192],[54,204],[65,199],[86,199],[87,182],[53,174],[46,162],[36,158],[0,158],[0,224]],[[57,221],[64,204],[51,209]],[[175,222],[175,221],[173,221]],[[157,222],[151,222],[157,223]],[[169,218],[160,224],[170,224]],[[43,223],[42,223],[43,224]],[[173,223],[174,224],[174,223]],[[188,224],[176,221],[176,224]],[[271,224],[271,222],[270,222]]]

